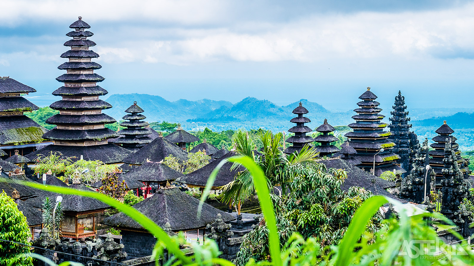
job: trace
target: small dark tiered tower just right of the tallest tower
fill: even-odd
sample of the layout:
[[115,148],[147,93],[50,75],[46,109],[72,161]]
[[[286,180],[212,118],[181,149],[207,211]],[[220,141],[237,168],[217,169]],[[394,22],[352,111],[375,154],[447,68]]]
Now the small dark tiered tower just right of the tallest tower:
[[140,108],[140,106],[137,106],[137,102],[133,102],[133,105],[128,107],[125,112],[130,115],[125,115],[122,118],[128,121],[122,122],[120,125],[127,128],[118,132],[121,136],[115,139],[114,143],[121,145],[129,151],[135,152],[153,141],[148,136],[152,131],[150,127],[146,127],[149,125],[148,123],[141,121],[146,118],[145,115],[141,114],[145,111]]

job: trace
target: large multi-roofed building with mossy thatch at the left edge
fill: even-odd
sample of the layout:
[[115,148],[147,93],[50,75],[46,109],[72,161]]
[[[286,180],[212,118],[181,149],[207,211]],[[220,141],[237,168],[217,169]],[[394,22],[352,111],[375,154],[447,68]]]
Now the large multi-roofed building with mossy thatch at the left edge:
[[53,142],[45,140],[43,134],[48,130],[25,115],[37,110],[38,106],[22,95],[36,92],[17,80],[0,77],[0,149],[6,154],[3,159],[14,155],[27,155]]

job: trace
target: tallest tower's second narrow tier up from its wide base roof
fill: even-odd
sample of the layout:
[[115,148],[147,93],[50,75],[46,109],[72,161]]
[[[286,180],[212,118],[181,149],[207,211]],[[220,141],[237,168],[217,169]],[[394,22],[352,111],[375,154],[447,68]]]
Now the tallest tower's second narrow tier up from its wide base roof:
[[117,120],[106,114],[97,115],[53,115],[46,119],[48,124],[74,124],[74,125],[87,125],[87,124],[111,124]]

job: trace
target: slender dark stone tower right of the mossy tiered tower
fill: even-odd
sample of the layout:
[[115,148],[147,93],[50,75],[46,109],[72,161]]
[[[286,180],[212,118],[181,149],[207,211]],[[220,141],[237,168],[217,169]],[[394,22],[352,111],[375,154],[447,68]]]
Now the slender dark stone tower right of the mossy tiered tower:
[[391,136],[388,140],[395,143],[392,151],[398,154],[401,158],[397,160],[400,163],[401,168],[407,170],[406,173],[402,174],[402,177],[406,177],[412,168],[412,164],[419,149],[418,137],[414,132],[410,132],[411,124],[408,124],[410,117],[407,117],[408,111],[405,111],[407,106],[405,105],[405,97],[401,96],[401,91],[398,91],[398,96],[395,97],[395,105],[392,106],[393,111],[390,112],[392,122],[388,127],[390,128]]

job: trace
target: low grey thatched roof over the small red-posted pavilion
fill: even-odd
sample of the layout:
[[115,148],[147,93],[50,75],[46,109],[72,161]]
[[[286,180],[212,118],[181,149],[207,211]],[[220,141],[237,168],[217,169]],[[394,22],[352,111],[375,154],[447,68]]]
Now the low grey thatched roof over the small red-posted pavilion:
[[157,183],[166,182],[167,180],[175,180],[182,176],[182,173],[159,162],[146,162],[124,174],[124,178],[127,179]]

